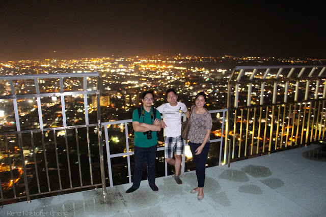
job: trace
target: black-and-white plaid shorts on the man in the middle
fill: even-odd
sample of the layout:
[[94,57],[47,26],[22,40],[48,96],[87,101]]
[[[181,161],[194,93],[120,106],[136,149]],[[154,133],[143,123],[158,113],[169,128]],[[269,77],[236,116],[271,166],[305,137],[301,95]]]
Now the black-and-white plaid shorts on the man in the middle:
[[173,158],[173,151],[176,155],[184,153],[184,142],[181,136],[165,137],[164,157]]

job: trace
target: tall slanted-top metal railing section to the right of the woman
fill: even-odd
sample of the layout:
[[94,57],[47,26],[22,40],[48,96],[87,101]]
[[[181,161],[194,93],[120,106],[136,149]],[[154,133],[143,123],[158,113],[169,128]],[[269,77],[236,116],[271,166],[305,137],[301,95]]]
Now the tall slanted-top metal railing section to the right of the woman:
[[325,66],[236,67],[228,82],[231,159],[324,139],[324,72]]

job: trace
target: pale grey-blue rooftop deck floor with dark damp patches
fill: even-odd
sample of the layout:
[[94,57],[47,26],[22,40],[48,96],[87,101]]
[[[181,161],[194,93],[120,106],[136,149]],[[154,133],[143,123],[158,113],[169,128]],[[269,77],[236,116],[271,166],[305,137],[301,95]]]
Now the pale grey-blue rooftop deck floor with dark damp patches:
[[326,151],[319,145],[276,152],[206,170],[205,198],[195,171],[156,179],[158,193],[143,180],[130,184],[19,202],[0,208],[1,216],[326,216]]

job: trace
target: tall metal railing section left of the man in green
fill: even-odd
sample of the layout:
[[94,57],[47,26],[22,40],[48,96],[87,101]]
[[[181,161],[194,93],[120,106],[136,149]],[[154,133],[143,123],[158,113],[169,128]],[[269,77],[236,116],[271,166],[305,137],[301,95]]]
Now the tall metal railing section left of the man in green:
[[[76,81],[78,82],[75,83],[79,83],[80,85],[73,87],[70,82],[67,82],[71,79],[77,79]],[[10,86],[10,91],[7,92],[7,95],[0,96],[0,100],[12,101],[15,117],[15,121],[12,121],[12,129],[10,129],[9,132],[0,133],[2,145],[5,145],[5,153],[2,158],[8,159],[8,161],[4,163],[8,165],[10,171],[10,174],[8,174],[10,179],[2,175],[2,178],[7,178],[8,182],[0,183],[2,185],[2,188],[0,188],[0,201],[21,198],[26,198],[27,201],[30,201],[33,196],[49,195],[51,193],[96,187],[98,185],[101,185],[105,190],[103,149],[100,133],[98,133],[98,141],[95,142],[95,144],[98,146],[100,158],[97,163],[100,165],[100,174],[102,175],[100,181],[96,181],[97,183],[94,181],[94,169],[92,167],[95,161],[91,158],[92,144],[90,140],[90,128],[100,129],[100,103],[99,91],[97,88],[98,79],[98,73],[0,77],[0,81],[3,83],[5,82],[5,86]],[[57,86],[60,86],[58,90],[53,91],[49,89],[50,86],[56,86],[55,83],[57,82]],[[26,85],[26,83],[31,87],[26,89],[32,92],[32,94],[21,93],[20,87],[21,85]],[[42,86],[43,88],[40,88],[39,83],[44,83]],[[65,98],[72,98],[75,95],[84,97],[84,106],[82,110],[84,110],[85,116],[83,119],[85,122],[83,125],[76,124],[74,126],[68,126],[67,120],[73,117],[67,115],[67,99]],[[97,117],[96,122],[94,121],[95,123],[90,123],[89,119],[89,95],[96,96]],[[26,113],[20,110],[17,101],[26,101],[26,99],[30,99],[30,102],[33,103],[35,98],[37,105],[32,107],[34,107],[34,110],[37,108],[37,110],[34,112],[34,115],[30,116],[32,120],[24,119]],[[60,98],[60,100],[57,98]],[[53,114],[53,112],[45,112],[44,110],[46,110],[47,107],[53,106],[49,103],[51,101],[55,101],[55,103],[52,104],[57,104],[58,108],[61,107],[61,111],[55,114]],[[60,102],[58,103],[58,101]],[[58,121],[56,121],[56,123],[44,124],[47,116],[51,115],[52,119],[50,120],[53,121],[53,119],[58,119]],[[38,123],[36,127],[32,126],[34,129],[21,129],[23,123],[34,121]],[[69,123],[73,125],[73,122],[70,121]],[[49,128],[45,126],[49,126]],[[28,127],[31,126],[28,125]],[[28,127],[24,126],[24,128]],[[81,135],[78,133],[79,131],[85,133]],[[72,137],[75,138],[76,144],[73,148],[68,141],[71,140]],[[8,138],[10,138],[10,141],[8,141]],[[84,156],[88,156],[88,162],[85,163],[87,166],[85,165],[85,167],[83,167],[83,170],[89,168],[87,184],[83,182],[83,180],[86,179],[85,176],[87,176],[87,173],[83,173],[84,177],[82,177],[82,162],[80,160],[79,151],[79,141],[81,140],[86,142],[84,146],[87,147],[83,148],[83,150],[86,149]],[[73,151],[77,151],[77,154],[72,154]],[[64,152],[66,154],[62,154]],[[72,158],[72,156],[76,157],[76,159]],[[49,168],[49,166],[51,167]],[[76,176],[78,178],[76,178]],[[23,182],[21,182],[22,178]],[[79,182],[76,182],[76,179],[79,179]],[[3,189],[7,191],[4,193]],[[34,190],[34,192],[31,192],[31,190]]]

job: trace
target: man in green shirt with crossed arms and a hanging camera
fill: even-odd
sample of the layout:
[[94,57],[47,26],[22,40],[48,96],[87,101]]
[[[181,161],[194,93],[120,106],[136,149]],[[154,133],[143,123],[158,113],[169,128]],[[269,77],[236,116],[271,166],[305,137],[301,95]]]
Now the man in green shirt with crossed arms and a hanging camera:
[[[157,192],[155,185],[155,159],[157,151],[157,134],[161,130],[160,113],[153,110],[153,91],[143,92],[142,108],[135,109],[132,113],[132,127],[134,130],[134,160],[135,168],[133,172],[133,184],[126,193],[136,191],[142,180],[142,173],[145,160],[147,162],[147,178],[150,188]],[[139,114],[139,111],[141,114]],[[156,112],[156,114],[154,114]]]

